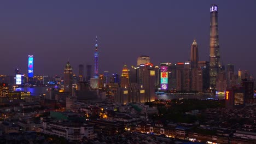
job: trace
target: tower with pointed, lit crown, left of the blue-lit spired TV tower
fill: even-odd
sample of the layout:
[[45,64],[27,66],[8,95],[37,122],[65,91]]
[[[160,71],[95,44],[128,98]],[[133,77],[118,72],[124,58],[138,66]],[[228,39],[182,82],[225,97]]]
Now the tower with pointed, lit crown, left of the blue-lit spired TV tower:
[[64,69],[64,91],[65,92],[72,92],[72,83],[73,83],[73,70],[69,63],[67,62],[65,69]]

